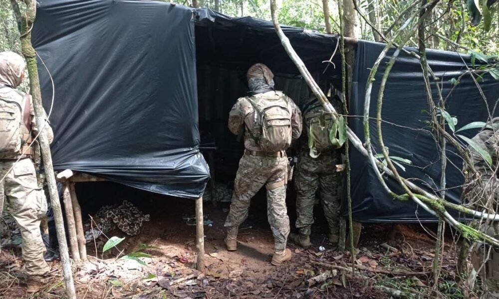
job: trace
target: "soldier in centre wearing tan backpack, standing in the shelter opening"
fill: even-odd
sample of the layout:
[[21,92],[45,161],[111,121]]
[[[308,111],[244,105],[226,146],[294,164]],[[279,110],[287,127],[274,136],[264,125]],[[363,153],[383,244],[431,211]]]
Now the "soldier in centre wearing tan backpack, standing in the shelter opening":
[[267,215],[274,236],[272,265],[291,259],[286,249],[289,218],[286,209],[288,159],[286,149],[301,135],[301,113],[294,102],[274,90],[273,74],[257,63],[247,73],[250,96],[240,98],[229,114],[229,129],[244,135],[245,153],[234,182],[231,210],[225,227],[225,244],[237,250],[239,226],[248,217],[251,198],[265,186]]

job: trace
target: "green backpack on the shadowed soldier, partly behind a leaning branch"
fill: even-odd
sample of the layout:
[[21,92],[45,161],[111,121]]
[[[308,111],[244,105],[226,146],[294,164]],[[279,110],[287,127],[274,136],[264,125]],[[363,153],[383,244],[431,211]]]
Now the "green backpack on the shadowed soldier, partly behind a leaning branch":
[[302,113],[311,157],[316,158],[323,151],[343,146],[344,141],[339,136],[340,126],[344,126],[342,117],[334,121],[332,114],[325,112],[317,99],[308,102]]

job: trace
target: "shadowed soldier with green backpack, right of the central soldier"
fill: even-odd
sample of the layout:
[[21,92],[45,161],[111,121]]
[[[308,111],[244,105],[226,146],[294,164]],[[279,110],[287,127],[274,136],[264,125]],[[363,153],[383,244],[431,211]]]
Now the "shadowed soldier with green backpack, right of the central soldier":
[[[336,96],[331,103],[341,113],[341,101]],[[322,104],[312,96],[302,107],[303,131],[301,150],[298,157],[295,176],[296,189],[296,228],[299,234],[291,234],[290,239],[302,247],[309,247],[310,232],[313,220],[315,193],[320,192],[324,216],[329,227],[329,242],[338,243],[339,207],[338,198],[340,174],[336,165],[341,160],[338,146],[334,146],[329,138],[330,130],[334,130],[334,121],[324,113]]]

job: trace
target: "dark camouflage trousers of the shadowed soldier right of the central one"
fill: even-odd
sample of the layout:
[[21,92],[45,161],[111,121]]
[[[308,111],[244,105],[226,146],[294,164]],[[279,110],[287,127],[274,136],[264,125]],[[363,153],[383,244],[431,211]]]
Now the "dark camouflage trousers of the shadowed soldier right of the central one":
[[320,192],[320,199],[329,227],[329,234],[339,235],[338,188],[340,175],[336,172],[338,162],[334,153],[322,153],[312,158],[307,150],[302,150],[296,166],[294,186],[296,189],[296,228],[300,234],[310,235],[313,220],[315,192]]

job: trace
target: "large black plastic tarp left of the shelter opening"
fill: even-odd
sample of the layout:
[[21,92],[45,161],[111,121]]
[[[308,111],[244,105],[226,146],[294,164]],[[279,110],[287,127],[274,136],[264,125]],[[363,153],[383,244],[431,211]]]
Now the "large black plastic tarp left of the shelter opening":
[[191,9],[149,0],[39,1],[32,42],[55,169],[180,197],[203,193],[209,171],[199,152]]

